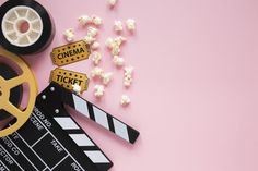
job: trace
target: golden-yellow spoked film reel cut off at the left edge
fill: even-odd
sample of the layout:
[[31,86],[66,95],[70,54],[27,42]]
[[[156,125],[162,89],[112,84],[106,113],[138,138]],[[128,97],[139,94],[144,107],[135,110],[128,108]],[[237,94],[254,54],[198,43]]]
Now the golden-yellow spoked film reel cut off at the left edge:
[[[20,75],[9,80],[4,78],[3,76],[0,76],[0,110],[4,110],[16,119],[15,123],[11,124],[10,126],[3,130],[0,130],[0,137],[2,137],[17,131],[27,121],[35,105],[37,87],[32,71],[21,58],[19,58],[12,52],[4,50],[3,48],[0,48],[0,57],[3,57],[9,61],[15,63],[22,71]],[[26,108],[20,109],[19,107],[15,107],[12,101],[10,101],[11,89],[19,87],[24,83],[28,85],[30,95]],[[7,115],[3,115],[2,118],[4,117]]]

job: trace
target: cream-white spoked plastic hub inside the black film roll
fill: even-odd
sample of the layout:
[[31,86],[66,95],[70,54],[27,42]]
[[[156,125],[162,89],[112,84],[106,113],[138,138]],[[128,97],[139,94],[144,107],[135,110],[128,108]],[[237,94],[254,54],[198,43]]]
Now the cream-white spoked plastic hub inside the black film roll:
[[34,9],[19,5],[10,9],[3,16],[2,30],[12,45],[27,47],[40,38],[43,21]]

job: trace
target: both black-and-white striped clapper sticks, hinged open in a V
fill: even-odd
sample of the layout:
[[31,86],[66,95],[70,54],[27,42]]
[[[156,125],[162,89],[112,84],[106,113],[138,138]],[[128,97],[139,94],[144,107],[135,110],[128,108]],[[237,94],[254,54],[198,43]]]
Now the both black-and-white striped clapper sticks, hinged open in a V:
[[54,82],[38,95],[37,102],[54,115],[54,119],[62,130],[69,134],[101,171],[107,171],[113,166],[112,161],[70,117],[64,105],[70,106],[128,143],[133,144],[140,135],[131,126]]

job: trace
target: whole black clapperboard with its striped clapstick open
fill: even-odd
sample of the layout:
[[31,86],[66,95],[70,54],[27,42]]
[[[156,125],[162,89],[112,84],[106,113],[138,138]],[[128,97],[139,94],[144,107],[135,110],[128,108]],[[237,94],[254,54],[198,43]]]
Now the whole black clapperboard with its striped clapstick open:
[[64,103],[131,144],[139,136],[131,126],[51,83],[38,95],[23,127],[0,138],[0,171],[107,171],[113,166]]

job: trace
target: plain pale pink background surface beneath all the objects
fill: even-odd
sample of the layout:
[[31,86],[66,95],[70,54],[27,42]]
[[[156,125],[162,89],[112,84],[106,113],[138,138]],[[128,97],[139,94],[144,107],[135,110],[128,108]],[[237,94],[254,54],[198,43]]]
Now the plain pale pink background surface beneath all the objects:
[[[3,0],[0,0],[2,3]],[[134,83],[122,88],[122,71],[112,64],[104,46],[101,66],[115,73],[105,97],[93,96],[94,82],[83,97],[141,132],[131,146],[93,122],[77,120],[115,162],[112,171],[257,171],[258,170],[258,1],[257,0],[120,0],[110,11],[105,0],[39,0],[57,28],[51,46],[26,57],[39,90],[48,85],[49,52],[64,44],[62,32],[86,30],[81,14],[104,19],[99,41],[114,36],[114,20],[133,17],[134,36],[122,47]],[[64,66],[89,73],[87,61]],[[122,94],[131,97],[121,108]]]

